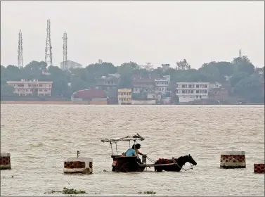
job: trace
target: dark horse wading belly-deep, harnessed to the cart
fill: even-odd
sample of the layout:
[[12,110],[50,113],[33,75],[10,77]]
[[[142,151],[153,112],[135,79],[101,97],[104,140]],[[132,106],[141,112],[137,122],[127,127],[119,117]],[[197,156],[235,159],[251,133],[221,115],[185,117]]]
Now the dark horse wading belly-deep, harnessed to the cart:
[[162,170],[171,171],[171,172],[179,172],[179,171],[181,171],[183,165],[185,165],[185,163],[187,163],[187,162],[191,163],[192,165],[197,165],[197,162],[195,162],[193,157],[190,155],[181,156],[177,159],[175,159],[175,158],[172,158],[169,160],[168,159],[159,159],[155,162],[155,165],[172,164],[172,163],[175,163],[175,165],[155,166],[155,172],[162,172]]

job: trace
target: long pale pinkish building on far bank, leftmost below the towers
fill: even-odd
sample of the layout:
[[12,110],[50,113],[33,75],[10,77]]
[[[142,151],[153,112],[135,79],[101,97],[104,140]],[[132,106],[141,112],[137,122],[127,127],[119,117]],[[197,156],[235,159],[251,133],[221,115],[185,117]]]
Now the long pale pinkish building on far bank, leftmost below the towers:
[[53,82],[40,82],[38,80],[8,81],[14,87],[18,96],[51,96]]

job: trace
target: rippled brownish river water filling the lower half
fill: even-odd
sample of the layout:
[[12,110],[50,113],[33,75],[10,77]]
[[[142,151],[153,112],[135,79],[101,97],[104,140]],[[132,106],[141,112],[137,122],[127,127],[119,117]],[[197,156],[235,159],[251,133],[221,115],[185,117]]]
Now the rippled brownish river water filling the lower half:
[[[198,165],[110,172],[110,145],[100,140],[136,133],[150,158],[190,154]],[[117,151],[127,148],[119,142]],[[219,168],[221,151],[232,150],[246,152],[245,169]],[[63,158],[77,151],[93,158],[93,174],[63,174]],[[1,171],[1,196],[62,196],[44,193],[63,187],[85,196],[264,196],[264,174],[253,173],[264,163],[264,106],[1,105],[1,152],[12,165]]]

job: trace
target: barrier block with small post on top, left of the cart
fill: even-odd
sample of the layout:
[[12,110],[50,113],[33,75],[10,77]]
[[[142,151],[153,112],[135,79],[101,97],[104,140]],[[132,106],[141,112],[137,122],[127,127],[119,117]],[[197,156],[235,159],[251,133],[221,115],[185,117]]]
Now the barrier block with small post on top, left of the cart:
[[92,174],[93,159],[92,158],[64,158],[65,174]]

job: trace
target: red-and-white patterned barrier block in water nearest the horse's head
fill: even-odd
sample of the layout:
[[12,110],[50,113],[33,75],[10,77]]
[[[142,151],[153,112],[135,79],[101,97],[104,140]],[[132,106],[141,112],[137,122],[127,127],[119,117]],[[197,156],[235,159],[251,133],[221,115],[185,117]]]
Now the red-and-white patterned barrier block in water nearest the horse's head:
[[221,168],[245,168],[245,151],[224,151],[220,158]]

